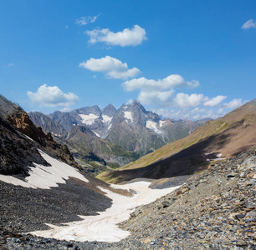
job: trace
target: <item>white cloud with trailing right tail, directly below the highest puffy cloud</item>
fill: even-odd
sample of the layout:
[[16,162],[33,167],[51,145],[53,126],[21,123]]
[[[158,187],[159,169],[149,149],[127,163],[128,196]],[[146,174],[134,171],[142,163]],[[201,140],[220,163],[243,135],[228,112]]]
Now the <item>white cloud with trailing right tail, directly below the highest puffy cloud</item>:
[[137,67],[128,69],[126,62],[105,56],[100,59],[90,58],[86,62],[80,62],[79,67],[84,67],[93,72],[105,72],[106,77],[115,79],[128,79],[136,77],[141,71]]

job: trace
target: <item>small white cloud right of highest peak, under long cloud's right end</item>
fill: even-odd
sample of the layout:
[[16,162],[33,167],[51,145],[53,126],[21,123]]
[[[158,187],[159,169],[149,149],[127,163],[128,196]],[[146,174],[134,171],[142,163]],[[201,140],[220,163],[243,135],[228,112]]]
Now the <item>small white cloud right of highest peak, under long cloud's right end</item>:
[[207,101],[208,97],[203,94],[192,93],[190,96],[186,93],[179,92],[173,99],[173,105],[177,107],[197,107],[202,102]]

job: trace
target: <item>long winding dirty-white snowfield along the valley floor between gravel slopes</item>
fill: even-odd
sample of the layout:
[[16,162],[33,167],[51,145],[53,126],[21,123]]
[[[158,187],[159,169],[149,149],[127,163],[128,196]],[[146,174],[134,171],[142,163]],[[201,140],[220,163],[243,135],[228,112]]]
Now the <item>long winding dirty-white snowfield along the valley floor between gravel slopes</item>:
[[150,184],[138,182],[125,185],[111,185],[112,188],[135,190],[136,195],[133,197],[125,197],[98,187],[113,200],[111,208],[108,208],[105,212],[98,212],[100,215],[80,216],[80,218],[83,218],[83,221],[65,223],[61,227],[47,224],[51,229],[33,232],[32,234],[44,238],[57,238],[67,241],[119,242],[121,239],[128,237],[130,232],[121,230],[117,227],[116,223],[127,220],[130,217],[130,213],[137,206],[151,203],[178,188],[151,189],[148,188]]

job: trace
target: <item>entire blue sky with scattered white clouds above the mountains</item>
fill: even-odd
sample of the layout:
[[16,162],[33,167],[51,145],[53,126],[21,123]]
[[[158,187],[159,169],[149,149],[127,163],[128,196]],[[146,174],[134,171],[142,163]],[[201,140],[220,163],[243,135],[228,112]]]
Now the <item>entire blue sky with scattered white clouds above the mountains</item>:
[[26,111],[199,119],[255,98],[255,1],[0,0],[0,34],[1,93]]

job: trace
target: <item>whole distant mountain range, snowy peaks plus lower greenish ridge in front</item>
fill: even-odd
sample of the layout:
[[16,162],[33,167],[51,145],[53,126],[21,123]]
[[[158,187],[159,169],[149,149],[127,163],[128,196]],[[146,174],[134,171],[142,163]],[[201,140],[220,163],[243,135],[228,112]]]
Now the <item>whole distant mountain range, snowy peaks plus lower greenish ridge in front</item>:
[[65,143],[84,168],[96,173],[95,168],[102,170],[135,161],[166,143],[186,137],[210,120],[162,120],[137,101],[123,104],[118,110],[109,104],[103,109],[92,106],[28,115],[34,124]]

